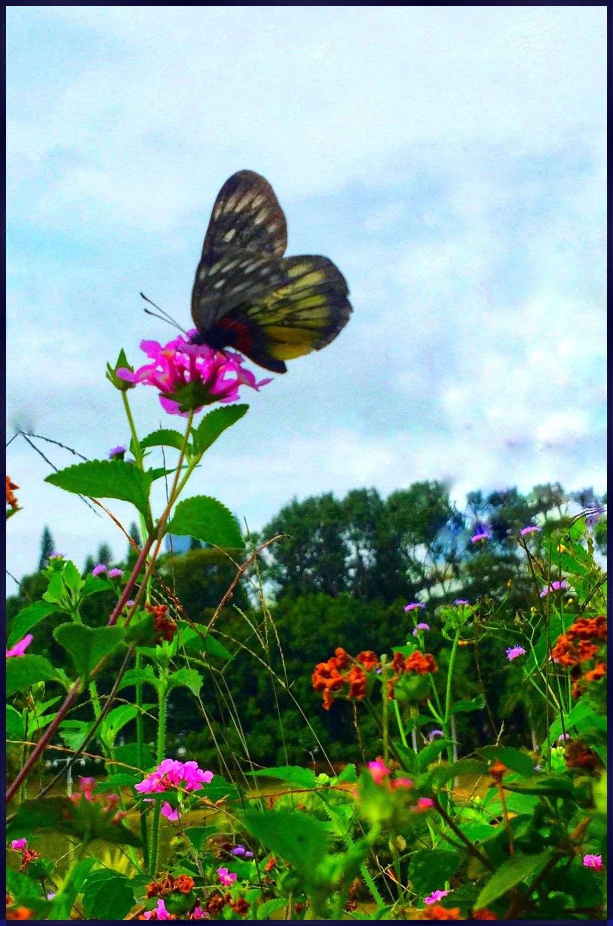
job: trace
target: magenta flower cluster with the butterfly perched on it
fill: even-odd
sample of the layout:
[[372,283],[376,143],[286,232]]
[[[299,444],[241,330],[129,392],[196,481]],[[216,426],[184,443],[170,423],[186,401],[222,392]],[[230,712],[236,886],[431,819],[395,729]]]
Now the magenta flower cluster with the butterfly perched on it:
[[[188,337],[196,333],[188,332]],[[117,369],[116,375],[120,380],[158,389],[160,403],[169,415],[185,416],[188,408],[202,411],[213,402],[235,402],[240,386],[259,389],[271,382],[257,382],[250,370],[243,369],[244,360],[239,354],[215,351],[206,344],[190,344],[182,335],[165,347],[157,341],[141,341],[141,350],[153,362],[134,373]]]

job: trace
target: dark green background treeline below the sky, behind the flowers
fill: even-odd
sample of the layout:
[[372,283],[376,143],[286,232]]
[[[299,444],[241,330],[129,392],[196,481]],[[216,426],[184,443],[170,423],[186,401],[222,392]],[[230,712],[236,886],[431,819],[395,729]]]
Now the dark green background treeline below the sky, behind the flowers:
[[[514,621],[537,594],[520,555],[519,532],[537,524],[546,536],[570,519],[570,503],[574,511],[605,502],[606,495],[591,489],[567,494],[556,483],[537,485],[529,494],[514,488],[472,492],[460,510],[442,482],[416,482],[386,498],[374,489],[359,489],[343,499],[322,494],[290,502],[262,532],[246,538],[248,547],[255,548],[283,535],[266,548],[258,571],[251,569],[238,583],[216,620],[215,633],[232,659],[212,659],[198,703],[187,689],[172,694],[169,754],[185,745],[212,768],[219,767],[218,749],[243,767],[246,752],[262,765],[305,763],[322,757],[324,750],[335,760],[359,760],[352,707],[339,702],[329,712],[322,710],[311,685],[313,666],[337,646],[354,655],[362,649],[389,653],[411,633],[411,614],[403,608],[411,601],[426,606],[420,619],[431,626],[428,650],[444,666],[447,643],[437,629],[435,608],[456,598],[485,602],[485,611],[496,613],[497,624],[509,629],[499,642],[491,636],[484,641],[478,662],[474,646],[462,649],[456,695],[484,692],[492,713],[507,719],[508,737],[530,745],[544,734],[542,709],[530,686],[518,684],[521,670],[505,658],[505,647],[514,642]],[[480,532],[487,541],[472,543]],[[130,534],[140,542],[135,525]],[[595,525],[594,537],[604,554],[606,522]],[[53,538],[45,530],[41,569],[51,552]],[[97,557],[88,557],[85,571],[100,562],[129,569],[135,558],[130,548],[122,562],[113,562],[103,545]],[[228,557],[197,542],[187,553],[161,557],[158,571],[197,624],[208,623],[236,576]],[[45,587],[40,569],[25,577],[19,594],[6,602],[9,623],[21,607],[40,599]],[[110,592],[93,596],[83,619],[92,626],[104,624],[114,600]],[[52,635],[56,622],[52,615],[38,626],[31,652],[57,665],[64,652]],[[110,690],[116,668],[108,666],[100,678],[103,693]],[[87,719],[89,709],[84,706],[74,716]],[[362,744],[373,757],[379,749],[373,721],[360,709],[357,722]],[[491,741],[497,731],[488,722],[486,711],[460,715],[460,752]],[[151,725],[153,740],[153,720],[145,723]]]

